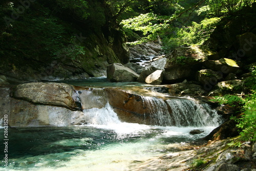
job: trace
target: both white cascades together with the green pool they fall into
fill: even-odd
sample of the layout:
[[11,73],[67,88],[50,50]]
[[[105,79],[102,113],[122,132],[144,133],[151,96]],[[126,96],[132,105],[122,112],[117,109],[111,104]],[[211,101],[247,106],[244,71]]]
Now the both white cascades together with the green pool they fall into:
[[[144,115],[150,116],[151,125],[121,122],[103,90],[90,91],[77,92],[84,110],[65,119],[69,123],[78,118],[83,125],[10,128],[8,168],[0,163],[0,170],[133,170],[149,158],[199,142],[221,122],[208,104],[192,98],[156,97],[142,97]],[[204,132],[190,135],[194,129]],[[3,143],[0,149],[4,149]]]

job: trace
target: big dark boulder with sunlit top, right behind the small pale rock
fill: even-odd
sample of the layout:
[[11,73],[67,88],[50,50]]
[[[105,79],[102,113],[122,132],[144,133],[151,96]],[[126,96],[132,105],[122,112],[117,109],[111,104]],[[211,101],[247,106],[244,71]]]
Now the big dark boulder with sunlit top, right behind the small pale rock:
[[194,79],[201,69],[207,56],[214,54],[203,46],[179,47],[172,54],[166,56],[164,67],[164,81],[169,83],[180,82],[184,79]]

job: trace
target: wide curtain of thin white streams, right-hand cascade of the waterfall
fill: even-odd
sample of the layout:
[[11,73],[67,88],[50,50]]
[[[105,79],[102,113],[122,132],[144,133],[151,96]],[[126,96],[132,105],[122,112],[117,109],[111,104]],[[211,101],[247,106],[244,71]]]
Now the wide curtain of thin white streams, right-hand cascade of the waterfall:
[[143,103],[150,108],[151,122],[161,126],[219,126],[221,117],[210,105],[193,98],[163,100],[143,97]]

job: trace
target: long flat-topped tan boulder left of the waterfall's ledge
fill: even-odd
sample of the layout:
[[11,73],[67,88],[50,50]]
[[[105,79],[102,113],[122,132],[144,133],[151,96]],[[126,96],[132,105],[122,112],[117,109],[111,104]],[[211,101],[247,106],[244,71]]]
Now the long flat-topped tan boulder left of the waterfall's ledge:
[[73,93],[74,88],[65,83],[31,82],[19,84],[13,90],[12,96],[34,104],[55,105],[79,110],[72,97]]

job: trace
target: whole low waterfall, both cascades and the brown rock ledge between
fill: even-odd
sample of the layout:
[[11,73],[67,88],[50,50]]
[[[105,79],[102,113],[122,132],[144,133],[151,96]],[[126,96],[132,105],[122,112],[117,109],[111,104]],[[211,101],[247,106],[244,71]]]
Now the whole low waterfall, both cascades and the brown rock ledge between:
[[[116,91],[116,90],[115,90]],[[122,90],[86,89],[76,92],[73,98],[81,104],[82,115],[73,122],[80,124],[109,125],[123,122],[159,126],[219,126],[220,115],[190,97],[168,99],[138,96]],[[115,97],[118,95],[119,97]],[[138,97],[137,97],[138,96]],[[118,100],[118,101],[117,101]],[[129,106],[129,108],[127,108]]]

